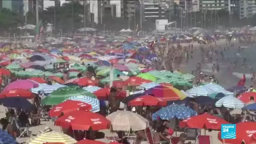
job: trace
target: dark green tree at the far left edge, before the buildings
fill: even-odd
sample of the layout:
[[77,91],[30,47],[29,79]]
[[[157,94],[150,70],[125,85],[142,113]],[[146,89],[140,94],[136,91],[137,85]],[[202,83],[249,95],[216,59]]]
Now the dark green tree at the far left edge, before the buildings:
[[11,11],[7,8],[3,8],[0,11],[0,29],[3,32],[9,31],[11,29],[16,29],[21,25],[21,19],[18,13]]

